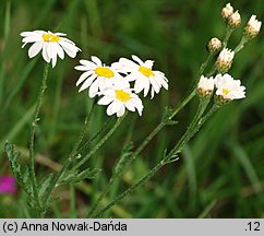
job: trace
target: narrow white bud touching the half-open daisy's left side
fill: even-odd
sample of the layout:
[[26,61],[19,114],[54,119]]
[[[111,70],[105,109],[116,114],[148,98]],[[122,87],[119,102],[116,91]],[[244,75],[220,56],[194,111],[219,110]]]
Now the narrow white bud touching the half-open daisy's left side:
[[215,82],[213,76],[209,79],[202,75],[197,84],[197,95],[209,98],[214,92]]

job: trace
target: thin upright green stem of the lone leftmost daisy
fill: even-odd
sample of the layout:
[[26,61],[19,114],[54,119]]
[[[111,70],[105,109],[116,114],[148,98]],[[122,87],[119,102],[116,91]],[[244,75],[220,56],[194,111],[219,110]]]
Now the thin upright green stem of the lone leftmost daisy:
[[37,179],[36,179],[36,173],[35,173],[34,141],[35,141],[37,121],[39,120],[38,115],[43,104],[43,96],[47,88],[48,68],[49,68],[49,64],[47,63],[44,70],[43,84],[37,96],[37,104],[34,113],[34,120],[32,122],[31,135],[29,135],[31,137],[29,138],[29,172],[31,172],[31,178],[33,181],[33,194],[38,206],[40,205],[39,205]]

